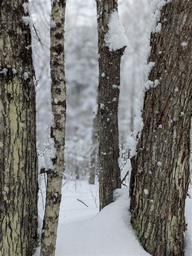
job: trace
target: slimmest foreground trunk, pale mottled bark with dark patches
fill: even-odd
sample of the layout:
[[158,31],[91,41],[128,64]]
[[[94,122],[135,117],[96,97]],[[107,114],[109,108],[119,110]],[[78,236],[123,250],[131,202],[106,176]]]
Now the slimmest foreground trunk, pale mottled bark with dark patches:
[[[66,0],[53,1],[51,11],[51,95],[53,124],[51,127],[51,165],[47,171],[45,215],[41,236],[41,256],[54,256],[61,188],[64,171],[66,120],[66,85],[64,73],[64,21]],[[55,157],[53,156],[55,154]]]

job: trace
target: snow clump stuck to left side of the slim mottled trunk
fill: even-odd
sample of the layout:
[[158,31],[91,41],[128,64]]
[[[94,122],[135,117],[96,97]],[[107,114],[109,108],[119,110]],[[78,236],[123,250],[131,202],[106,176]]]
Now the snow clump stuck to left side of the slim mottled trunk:
[[47,150],[45,151],[44,158],[45,158],[45,168],[46,170],[53,170],[53,162],[52,159],[55,158],[55,142],[52,138],[49,138],[49,144],[47,146]]

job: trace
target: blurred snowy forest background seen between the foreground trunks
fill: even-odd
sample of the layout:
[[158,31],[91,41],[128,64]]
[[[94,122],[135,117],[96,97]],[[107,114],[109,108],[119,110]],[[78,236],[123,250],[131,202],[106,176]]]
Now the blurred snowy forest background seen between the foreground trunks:
[[[119,98],[119,144],[127,148],[126,139],[134,129],[135,111],[142,96],[144,65],[149,48],[149,0],[119,0],[119,17],[128,37],[128,47],[121,62]],[[50,134],[50,11],[49,0],[32,1],[36,87],[37,147],[45,150]],[[78,40],[77,40],[78,38]],[[93,119],[97,109],[98,47],[96,2],[72,0],[66,4],[65,72],[67,87],[67,122],[65,173],[89,175]],[[139,95],[141,94],[141,95]],[[140,105],[139,105],[140,106]]]

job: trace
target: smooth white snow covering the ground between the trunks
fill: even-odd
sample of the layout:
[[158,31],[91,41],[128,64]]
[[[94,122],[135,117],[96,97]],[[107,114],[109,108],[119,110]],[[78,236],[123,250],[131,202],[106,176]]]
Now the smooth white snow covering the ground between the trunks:
[[[64,180],[65,182],[65,180]],[[189,194],[192,195],[192,190]],[[39,195],[39,208],[42,198]],[[55,256],[147,256],[130,224],[128,188],[115,192],[115,202],[99,212],[98,184],[67,181],[62,187]],[[87,206],[78,201],[83,201]],[[45,199],[44,199],[45,201]],[[40,228],[43,210],[40,215]],[[185,256],[192,252],[192,199],[186,199]],[[39,256],[39,248],[35,254]]]

